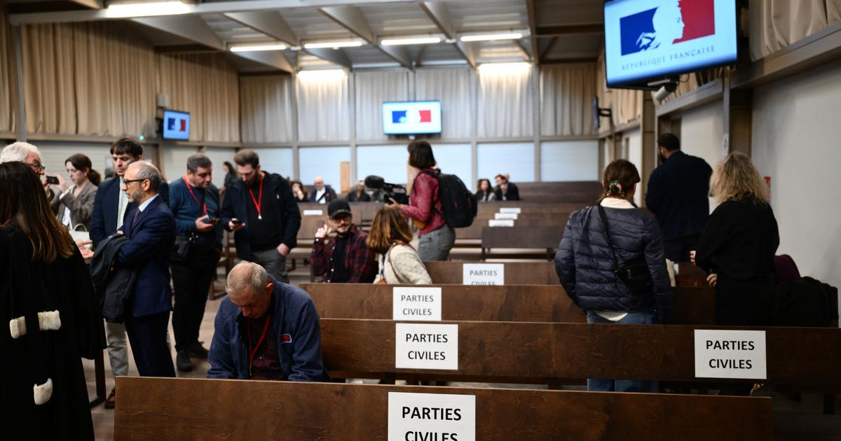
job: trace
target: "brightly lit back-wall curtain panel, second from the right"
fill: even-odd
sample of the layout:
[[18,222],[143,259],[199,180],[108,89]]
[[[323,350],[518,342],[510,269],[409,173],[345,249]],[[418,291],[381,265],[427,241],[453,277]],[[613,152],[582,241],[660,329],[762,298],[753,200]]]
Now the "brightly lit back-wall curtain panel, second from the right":
[[532,66],[479,66],[479,138],[521,138],[534,133]]

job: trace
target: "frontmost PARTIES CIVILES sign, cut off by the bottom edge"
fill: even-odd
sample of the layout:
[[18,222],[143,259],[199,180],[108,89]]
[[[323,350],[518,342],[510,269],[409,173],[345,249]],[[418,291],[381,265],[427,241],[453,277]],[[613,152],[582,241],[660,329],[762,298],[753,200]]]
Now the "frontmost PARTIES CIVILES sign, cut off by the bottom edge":
[[389,392],[389,441],[475,441],[476,396]]

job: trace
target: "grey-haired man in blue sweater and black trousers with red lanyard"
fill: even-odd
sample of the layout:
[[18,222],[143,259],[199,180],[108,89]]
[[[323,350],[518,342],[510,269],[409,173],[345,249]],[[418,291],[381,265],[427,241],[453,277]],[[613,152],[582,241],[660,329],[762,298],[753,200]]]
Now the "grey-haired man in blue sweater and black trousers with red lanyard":
[[187,244],[177,247],[181,252],[173,253],[170,260],[175,288],[172,308],[175,365],[182,372],[193,370],[190,357],[208,357],[208,350],[198,341],[198,328],[222,249],[219,190],[211,183],[212,178],[213,163],[199,153],[187,160],[187,174],[169,186],[176,242]]

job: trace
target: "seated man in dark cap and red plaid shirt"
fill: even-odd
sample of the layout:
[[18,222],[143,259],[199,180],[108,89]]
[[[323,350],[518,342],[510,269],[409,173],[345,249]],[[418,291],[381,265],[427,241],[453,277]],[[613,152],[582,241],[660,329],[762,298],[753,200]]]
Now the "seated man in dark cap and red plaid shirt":
[[[336,231],[325,246],[324,239]],[[315,232],[315,244],[309,254],[315,276],[325,276],[328,283],[371,283],[377,276],[377,258],[365,244],[368,234],[353,224],[351,204],[337,199],[327,206],[325,225]]]

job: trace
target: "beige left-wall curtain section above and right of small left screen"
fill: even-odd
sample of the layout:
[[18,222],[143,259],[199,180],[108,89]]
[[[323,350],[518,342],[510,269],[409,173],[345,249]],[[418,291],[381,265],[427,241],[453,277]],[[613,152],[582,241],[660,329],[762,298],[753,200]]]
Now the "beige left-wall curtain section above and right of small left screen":
[[158,55],[157,66],[157,91],[190,113],[190,140],[240,141],[239,75],[223,55]]

